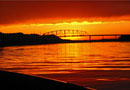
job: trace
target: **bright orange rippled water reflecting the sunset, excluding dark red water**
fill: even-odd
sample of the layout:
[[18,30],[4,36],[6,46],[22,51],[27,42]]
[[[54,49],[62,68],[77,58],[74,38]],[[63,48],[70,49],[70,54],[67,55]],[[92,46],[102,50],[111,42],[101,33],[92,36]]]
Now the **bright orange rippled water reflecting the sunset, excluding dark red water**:
[[5,47],[0,51],[0,69],[27,74],[130,70],[129,45],[95,42]]

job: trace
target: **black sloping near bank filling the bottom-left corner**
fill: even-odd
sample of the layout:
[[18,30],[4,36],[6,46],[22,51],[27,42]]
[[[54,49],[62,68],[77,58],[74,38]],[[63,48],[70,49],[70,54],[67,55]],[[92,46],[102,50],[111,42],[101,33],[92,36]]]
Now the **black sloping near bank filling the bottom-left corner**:
[[4,90],[90,90],[82,86],[24,74],[0,71]]

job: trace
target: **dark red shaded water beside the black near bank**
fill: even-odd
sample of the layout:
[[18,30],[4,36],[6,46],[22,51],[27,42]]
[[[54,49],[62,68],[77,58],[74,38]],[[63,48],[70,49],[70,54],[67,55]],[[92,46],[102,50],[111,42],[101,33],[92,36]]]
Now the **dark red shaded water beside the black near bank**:
[[65,80],[96,90],[130,89],[129,70],[77,70],[75,72],[71,74],[36,74],[36,76]]

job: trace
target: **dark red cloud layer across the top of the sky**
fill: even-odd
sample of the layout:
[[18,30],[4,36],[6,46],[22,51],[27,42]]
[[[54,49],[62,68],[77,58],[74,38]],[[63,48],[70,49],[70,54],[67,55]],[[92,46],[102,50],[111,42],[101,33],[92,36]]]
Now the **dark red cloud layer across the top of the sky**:
[[[129,1],[0,1],[0,25],[130,15]],[[41,22],[40,22],[41,23]]]

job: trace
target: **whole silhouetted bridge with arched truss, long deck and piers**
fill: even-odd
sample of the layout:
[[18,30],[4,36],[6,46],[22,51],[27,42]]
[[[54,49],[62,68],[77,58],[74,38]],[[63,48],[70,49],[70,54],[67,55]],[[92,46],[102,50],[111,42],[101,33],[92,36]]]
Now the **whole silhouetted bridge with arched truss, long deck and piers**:
[[102,39],[104,39],[105,36],[114,36],[115,39],[117,39],[118,36],[121,35],[129,35],[129,34],[96,34],[96,35],[90,35],[86,31],[82,30],[56,30],[56,31],[50,31],[46,32],[43,35],[56,35],[58,37],[83,37],[88,36],[89,40],[92,40],[93,36],[102,36]]

